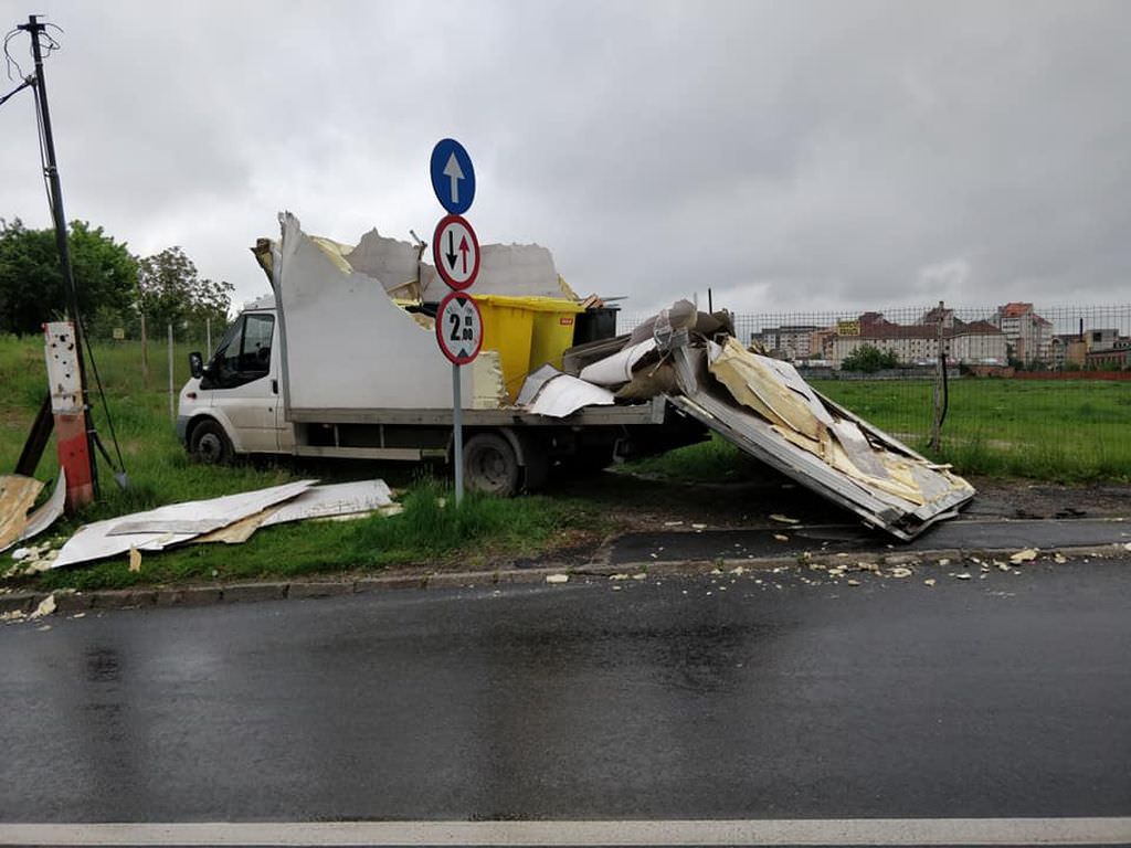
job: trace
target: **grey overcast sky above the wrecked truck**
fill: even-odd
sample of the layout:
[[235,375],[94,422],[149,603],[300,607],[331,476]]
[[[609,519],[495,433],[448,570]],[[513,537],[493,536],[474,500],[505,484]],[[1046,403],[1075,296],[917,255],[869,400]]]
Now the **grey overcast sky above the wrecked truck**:
[[[24,6],[0,29],[64,29],[68,218],[180,244],[238,302],[280,209],[431,239],[446,136],[482,243],[544,244],[630,311],[1131,300],[1121,0]],[[29,93],[0,138],[0,216],[48,226]]]

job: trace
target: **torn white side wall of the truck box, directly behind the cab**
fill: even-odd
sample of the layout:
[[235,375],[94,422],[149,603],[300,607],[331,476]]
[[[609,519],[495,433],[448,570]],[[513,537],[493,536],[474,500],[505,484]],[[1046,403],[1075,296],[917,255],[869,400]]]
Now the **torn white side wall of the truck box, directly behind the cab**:
[[[288,413],[451,407],[451,364],[380,280],[344,272],[285,213],[273,284]],[[475,397],[460,369],[464,406]]]

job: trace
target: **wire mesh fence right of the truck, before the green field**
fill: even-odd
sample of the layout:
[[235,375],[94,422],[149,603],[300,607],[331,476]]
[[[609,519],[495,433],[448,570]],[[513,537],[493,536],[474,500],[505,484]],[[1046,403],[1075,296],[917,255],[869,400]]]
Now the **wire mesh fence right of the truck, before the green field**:
[[[646,318],[624,314],[618,330]],[[940,458],[1131,477],[1131,304],[934,303],[733,320],[744,344],[793,362],[834,400]]]

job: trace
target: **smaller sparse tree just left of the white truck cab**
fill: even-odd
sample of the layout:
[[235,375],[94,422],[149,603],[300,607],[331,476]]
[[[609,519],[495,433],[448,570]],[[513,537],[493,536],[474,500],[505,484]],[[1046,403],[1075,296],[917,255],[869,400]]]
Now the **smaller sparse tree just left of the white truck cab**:
[[224,327],[234,291],[225,280],[201,278],[192,260],[175,245],[138,262],[137,308],[155,330],[206,319]]

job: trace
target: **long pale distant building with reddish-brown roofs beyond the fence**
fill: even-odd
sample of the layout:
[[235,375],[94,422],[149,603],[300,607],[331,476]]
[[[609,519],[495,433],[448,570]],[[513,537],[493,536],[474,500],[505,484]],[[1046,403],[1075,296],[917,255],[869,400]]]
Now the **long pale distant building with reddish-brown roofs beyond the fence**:
[[949,362],[1005,364],[1007,341],[999,328],[987,321],[961,321],[953,310],[939,308],[913,325],[893,323],[880,312],[865,312],[857,319],[838,321],[829,341],[828,358],[839,367],[845,357],[871,345],[892,352],[906,365],[927,364],[939,361],[940,340]]

